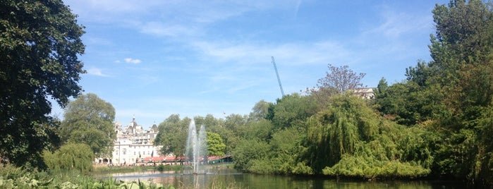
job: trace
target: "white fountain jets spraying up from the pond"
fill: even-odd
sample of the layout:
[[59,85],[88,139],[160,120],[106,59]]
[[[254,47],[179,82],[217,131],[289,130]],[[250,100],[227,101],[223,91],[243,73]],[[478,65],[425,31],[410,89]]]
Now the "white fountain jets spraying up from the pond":
[[[191,154],[190,154],[191,153]],[[195,121],[190,121],[188,126],[188,138],[185,154],[191,157],[193,165],[193,173],[205,173],[201,168],[201,160],[207,162],[207,141],[205,134],[205,126],[200,126],[199,132],[195,128]],[[202,158],[202,159],[201,159]]]

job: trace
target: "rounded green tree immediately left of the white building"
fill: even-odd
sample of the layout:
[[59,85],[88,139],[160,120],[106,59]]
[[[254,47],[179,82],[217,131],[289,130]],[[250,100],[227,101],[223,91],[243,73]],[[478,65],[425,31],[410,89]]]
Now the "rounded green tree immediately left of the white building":
[[92,93],[80,95],[65,109],[61,138],[89,145],[96,157],[108,157],[116,140],[114,119],[115,109],[109,102]]

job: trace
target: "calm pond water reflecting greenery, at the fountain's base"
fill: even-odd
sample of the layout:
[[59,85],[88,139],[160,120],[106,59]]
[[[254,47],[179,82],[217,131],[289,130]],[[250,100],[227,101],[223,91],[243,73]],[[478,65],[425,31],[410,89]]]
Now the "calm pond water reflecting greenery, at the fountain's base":
[[152,181],[175,188],[466,188],[455,181],[348,181],[302,176],[274,176],[219,169],[205,174],[190,171],[145,171],[101,176],[122,181]]

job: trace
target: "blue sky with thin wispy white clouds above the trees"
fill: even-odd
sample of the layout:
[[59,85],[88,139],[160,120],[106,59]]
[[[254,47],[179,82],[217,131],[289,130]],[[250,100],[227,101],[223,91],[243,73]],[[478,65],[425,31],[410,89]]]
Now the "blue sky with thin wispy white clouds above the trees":
[[[80,85],[115,121],[144,128],[171,114],[225,118],[314,87],[328,64],[376,87],[430,61],[432,9],[418,1],[63,0],[85,27]],[[52,114],[63,118],[63,109]]]

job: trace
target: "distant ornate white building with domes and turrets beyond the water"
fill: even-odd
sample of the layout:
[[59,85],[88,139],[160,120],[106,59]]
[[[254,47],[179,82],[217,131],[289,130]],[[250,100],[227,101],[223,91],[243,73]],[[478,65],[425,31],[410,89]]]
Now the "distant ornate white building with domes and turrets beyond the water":
[[162,146],[154,146],[154,138],[158,133],[154,124],[149,130],[144,130],[133,117],[128,126],[123,128],[120,123],[114,124],[116,140],[111,158],[97,159],[98,163],[128,165],[144,161],[146,157],[159,157]]

